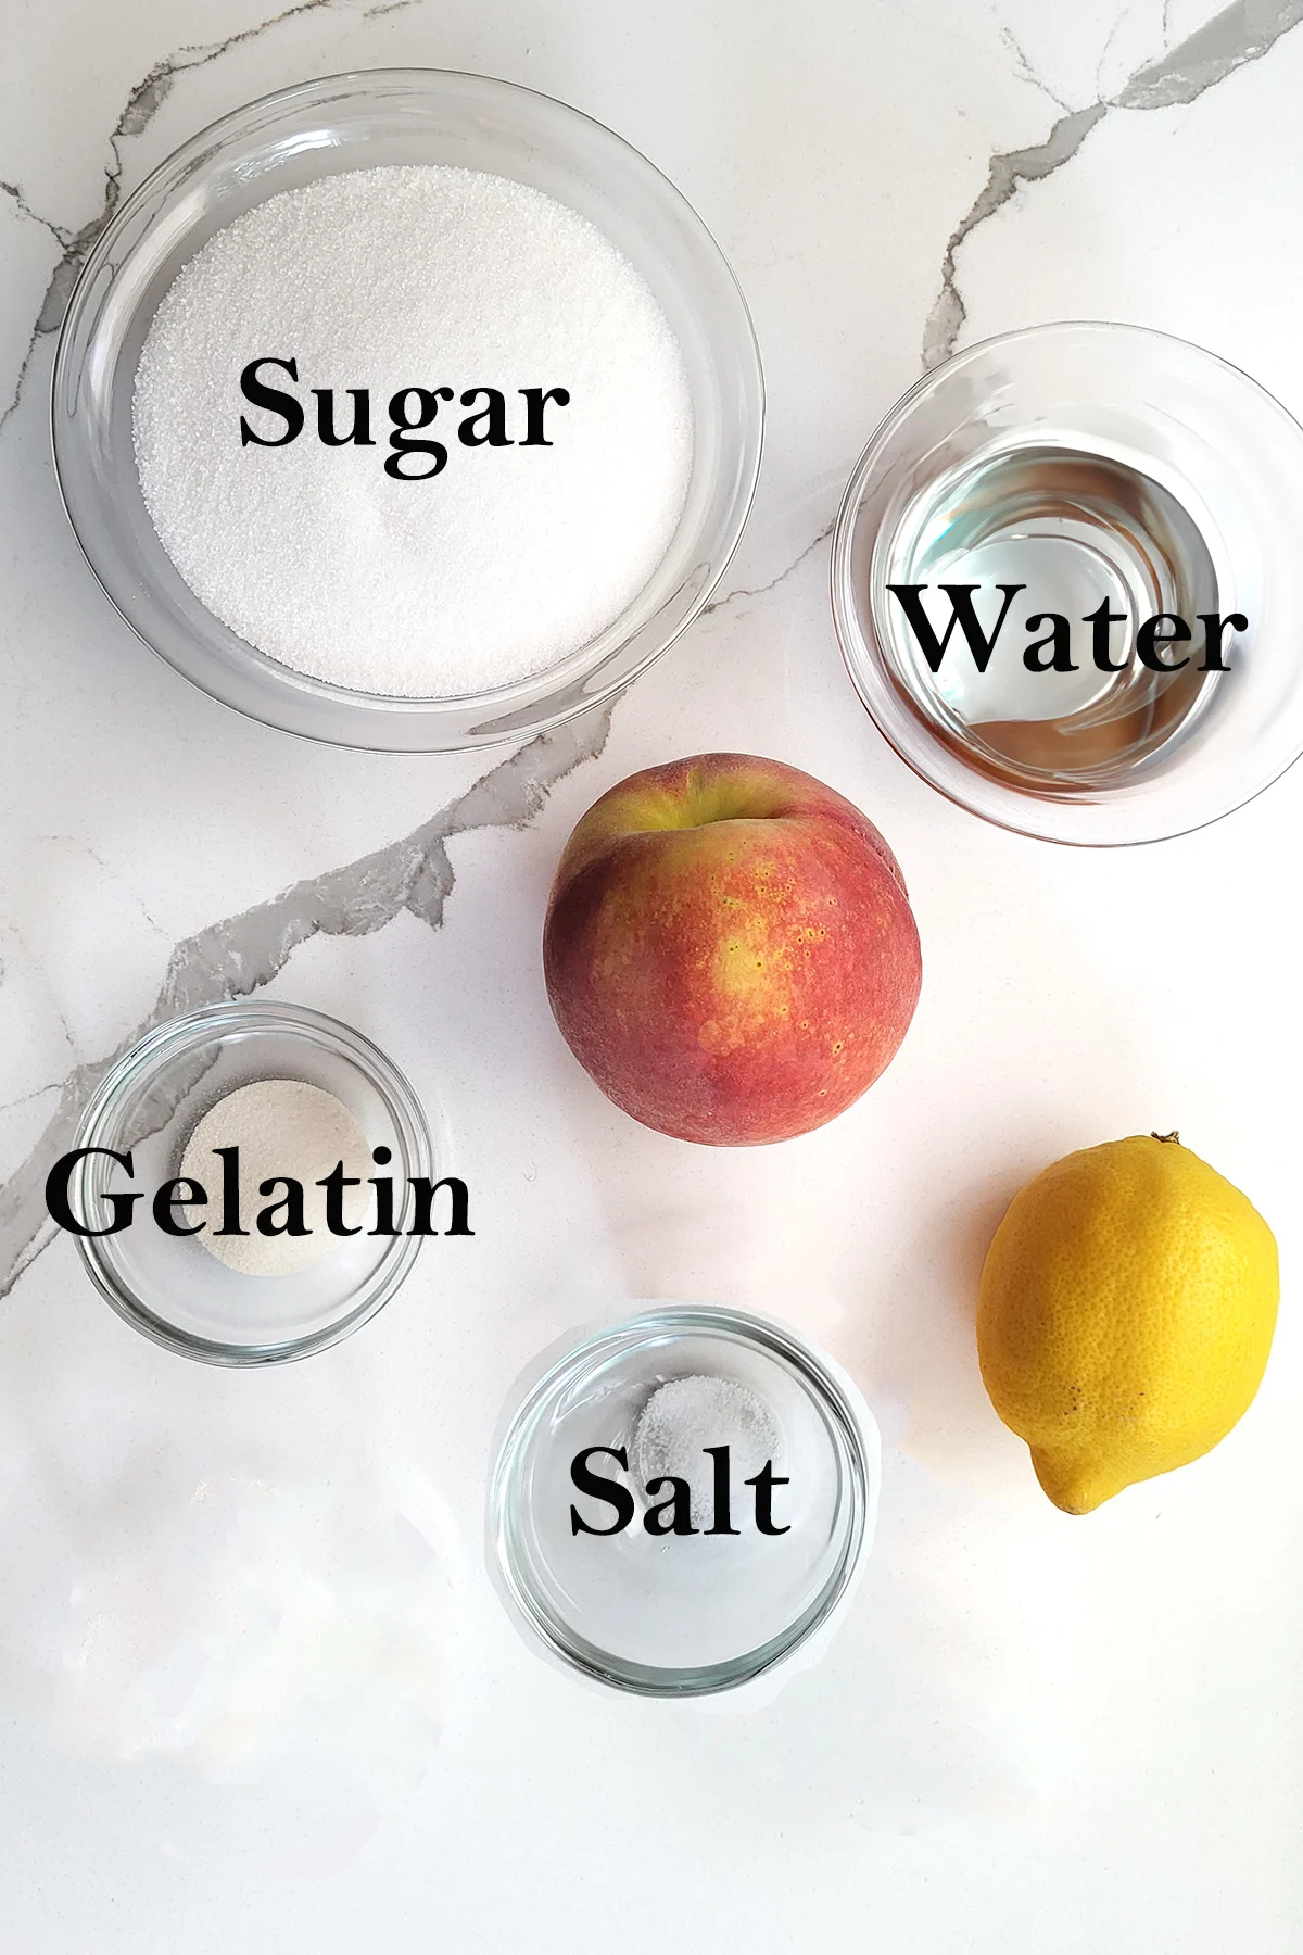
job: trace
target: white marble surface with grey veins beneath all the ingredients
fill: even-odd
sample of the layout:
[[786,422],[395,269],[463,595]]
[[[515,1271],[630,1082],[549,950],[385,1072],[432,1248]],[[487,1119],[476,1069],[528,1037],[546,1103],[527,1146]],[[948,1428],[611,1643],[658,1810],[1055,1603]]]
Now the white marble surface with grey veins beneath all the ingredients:
[[[6,1949],[1299,1947],[1303,770],[1147,850],[985,829],[856,704],[824,538],[924,354],[1006,326],[1164,326],[1303,413],[1301,18],[1295,0],[1217,18],[1198,0],[303,0],[275,20],[258,0],[4,0]],[[254,94],[389,63],[533,84],[645,149],[729,252],[770,381],[731,594],[609,731],[504,753],[469,802],[498,757],[315,749],[172,676],[94,586],[47,452],[51,328],[119,186]],[[924,938],[889,1075],[754,1153],[627,1122],[539,981],[570,823],[625,772],[709,747],[858,800]],[[445,841],[441,909],[404,909],[412,835]],[[31,1241],[23,1163],[160,987],[264,978],[441,1099],[477,1236],[432,1243],[352,1343],[232,1376],[133,1335],[66,1239]],[[985,1400],[977,1267],[1030,1171],[1172,1126],[1276,1224],[1276,1353],[1213,1456],[1071,1521]],[[854,1611],[760,1711],[584,1689],[486,1580],[512,1380],[639,1296],[789,1316],[883,1423]]]

